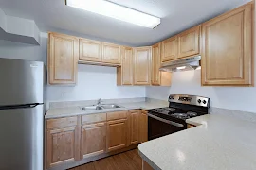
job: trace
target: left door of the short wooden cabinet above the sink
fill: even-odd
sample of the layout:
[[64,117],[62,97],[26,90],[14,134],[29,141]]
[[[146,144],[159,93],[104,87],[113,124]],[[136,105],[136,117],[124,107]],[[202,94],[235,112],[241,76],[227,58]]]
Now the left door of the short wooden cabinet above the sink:
[[101,62],[101,42],[80,39],[80,60]]

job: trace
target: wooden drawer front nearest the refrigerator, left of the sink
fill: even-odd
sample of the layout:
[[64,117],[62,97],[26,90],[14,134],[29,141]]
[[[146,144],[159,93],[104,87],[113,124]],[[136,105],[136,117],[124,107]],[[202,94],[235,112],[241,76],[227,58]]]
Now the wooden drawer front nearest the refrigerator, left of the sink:
[[78,117],[64,117],[47,120],[47,129],[59,127],[75,127],[78,125]]

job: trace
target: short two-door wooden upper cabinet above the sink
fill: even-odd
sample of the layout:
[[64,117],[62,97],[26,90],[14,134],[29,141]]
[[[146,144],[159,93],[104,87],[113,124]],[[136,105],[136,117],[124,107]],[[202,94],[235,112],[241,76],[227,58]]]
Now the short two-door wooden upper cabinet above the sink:
[[95,65],[119,65],[120,49],[117,44],[80,39],[79,59]]

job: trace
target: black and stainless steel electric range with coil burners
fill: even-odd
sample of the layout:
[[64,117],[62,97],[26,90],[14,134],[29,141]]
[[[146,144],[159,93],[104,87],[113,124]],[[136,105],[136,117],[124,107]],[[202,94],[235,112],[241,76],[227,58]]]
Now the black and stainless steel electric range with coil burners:
[[148,138],[153,140],[187,128],[186,119],[210,113],[210,98],[170,95],[169,107],[148,112]]

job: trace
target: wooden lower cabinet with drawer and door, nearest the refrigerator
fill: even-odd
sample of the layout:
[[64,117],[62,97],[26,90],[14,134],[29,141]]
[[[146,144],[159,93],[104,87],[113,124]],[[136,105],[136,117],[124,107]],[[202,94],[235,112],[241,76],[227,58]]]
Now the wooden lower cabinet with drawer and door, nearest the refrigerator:
[[80,127],[77,124],[77,117],[47,121],[47,168],[80,160]]

